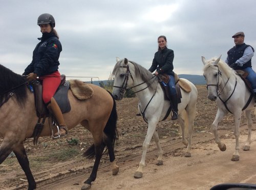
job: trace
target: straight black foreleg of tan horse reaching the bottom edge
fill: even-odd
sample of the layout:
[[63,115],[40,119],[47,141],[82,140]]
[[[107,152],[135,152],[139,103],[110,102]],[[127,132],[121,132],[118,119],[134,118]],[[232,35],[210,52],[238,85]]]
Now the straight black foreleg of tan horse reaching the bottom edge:
[[35,179],[32,175],[30,167],[29,167],[29,160],[28,160],[24,145],[23,144],[17,145],[14,148],[13,152],[14,152],[14,154],[15,154],[18,162],[19,162],[19,165],[22,167],[23,171],[26,174],[26,177],[27,177],[27,180],[28,180],[28,183],[29,183],[28,190],[35,189],[36,188],[36,182],[35,182]]

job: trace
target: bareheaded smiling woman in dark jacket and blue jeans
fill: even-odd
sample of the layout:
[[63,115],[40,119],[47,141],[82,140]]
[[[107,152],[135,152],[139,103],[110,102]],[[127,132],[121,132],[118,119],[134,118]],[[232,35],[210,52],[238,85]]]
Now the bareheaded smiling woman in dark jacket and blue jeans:
[[150,67],[151,72],[155,72],[156,75],[158,74],[167,74],[169,75],[170,79],[167,84],[168,91],[170,95],[170,101],[173,105],[173,116],[172,120],[178,119],[178,98],[177,92],[175,88],[175,78],[174,78],[174,51],[172,49],[167,48],[167,40],[165,36],[158,37],[158,51],[155,53],[152,66]]

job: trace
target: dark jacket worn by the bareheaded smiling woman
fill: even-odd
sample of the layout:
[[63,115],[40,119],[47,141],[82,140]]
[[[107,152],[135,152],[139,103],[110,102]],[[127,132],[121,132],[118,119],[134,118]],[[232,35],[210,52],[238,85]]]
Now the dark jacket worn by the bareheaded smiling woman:
[[148,69],[150,72],[154,72],[157,69],[159,74],[174,75],[174,51],[165,47],[155,53],[152,66]]

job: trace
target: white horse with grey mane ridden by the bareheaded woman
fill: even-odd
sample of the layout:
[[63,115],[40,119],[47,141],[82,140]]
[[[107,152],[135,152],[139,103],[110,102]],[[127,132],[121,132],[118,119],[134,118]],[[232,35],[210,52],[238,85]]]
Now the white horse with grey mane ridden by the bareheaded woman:
[[[146,137],[143,143],[143,153],[139,168],[134,174],[135,178],[141,178],[145,166],[147,148],[150,145],[152,136],[157,144],[158,158],[157,165],[163,164],[163,150],[160,146],[156,126],[166,116],[170,101],[164,99],[164,92],[155,77],[150,71],[139,64],[128,61],[126,58],[116,59],[117,63],[113,70],[114,88],[113,95],[116,100],[121,100],[127,89],[133,89],[139,99],[138,110],[148,123]],[[181,89],[181,103],[178,104],[178,121],[182,128],[182,142],[187,145],[186,157],[190,157],[191,137],[193,133],[194,118],[196,116],[197,88],[186,79],[180,79],[188,85],[190,92]],[[184,130],[188,127],[188,142],[185,139]]]

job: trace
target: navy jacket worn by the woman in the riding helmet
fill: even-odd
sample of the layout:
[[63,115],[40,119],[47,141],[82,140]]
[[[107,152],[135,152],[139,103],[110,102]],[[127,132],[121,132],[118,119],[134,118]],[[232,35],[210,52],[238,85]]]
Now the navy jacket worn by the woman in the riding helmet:
[[59,55],[62,46],[54,33],[43,33],[33,51],[32,62],[25,69],[24,75],[33,72],[38,76],[51,74],[58,70]]

